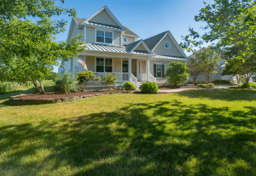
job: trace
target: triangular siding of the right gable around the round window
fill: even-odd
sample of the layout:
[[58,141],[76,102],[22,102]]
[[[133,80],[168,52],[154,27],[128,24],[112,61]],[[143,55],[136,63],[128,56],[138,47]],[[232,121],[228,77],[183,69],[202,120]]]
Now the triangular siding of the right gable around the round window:
[[[169,41],[169,43],[171,43],[171,48],[167,49],[165,47],[164,44],[166,41]],[[163,40],[156,46],[156,48],[154,48],[153,53],[157,55],[172,55],[177,57],[183,57],[179,49],[172,42],[172,39],[171,37],[169,37],[169,35],[166,35],[166,37],[163,38]]]

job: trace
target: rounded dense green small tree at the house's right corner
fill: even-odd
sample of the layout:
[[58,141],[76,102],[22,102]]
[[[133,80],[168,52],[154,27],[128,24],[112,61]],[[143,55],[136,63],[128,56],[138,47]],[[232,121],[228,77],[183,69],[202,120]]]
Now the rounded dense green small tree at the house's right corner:
[[172,62],[167,71],[166,76],[170,77],[169,82],[174,86],[182,82],[186,82],[189,79],[189,68],[182,62]]

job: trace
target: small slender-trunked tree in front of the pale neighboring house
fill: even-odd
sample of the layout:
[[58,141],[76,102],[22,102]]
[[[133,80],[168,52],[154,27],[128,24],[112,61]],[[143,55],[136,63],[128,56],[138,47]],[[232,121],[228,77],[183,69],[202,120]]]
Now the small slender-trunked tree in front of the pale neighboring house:
[[210,76],[217,73],[214,69],[217,69],[220,54],[210,47],[202,48],[199,52],[193,51],[193,53],[196,56],[199,71],[205,76],[208,84]]

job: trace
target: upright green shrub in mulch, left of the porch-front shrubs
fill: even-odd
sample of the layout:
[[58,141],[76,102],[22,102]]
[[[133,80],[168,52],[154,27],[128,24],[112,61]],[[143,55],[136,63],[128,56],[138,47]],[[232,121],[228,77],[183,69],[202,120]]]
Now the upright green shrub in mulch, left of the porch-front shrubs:
[[70,93],[72,90],[75,91],[77,89],[75,81],[76,77],[72,73],[64,73],[60,84],[61,90],[65,94]]

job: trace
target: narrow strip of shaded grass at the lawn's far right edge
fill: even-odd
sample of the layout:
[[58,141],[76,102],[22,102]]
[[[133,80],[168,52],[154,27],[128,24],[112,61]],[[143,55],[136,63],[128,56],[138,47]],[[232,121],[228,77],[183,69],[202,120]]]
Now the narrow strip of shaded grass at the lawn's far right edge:
[[187,90],[177,94],[187,96],[189,98],[221,99],[226,101],[253,101],[256,99],[256,90],[252,89],[200,89]]

